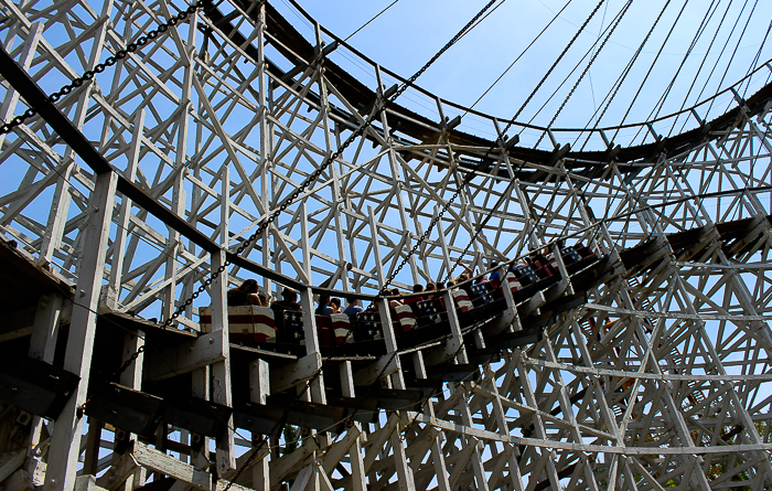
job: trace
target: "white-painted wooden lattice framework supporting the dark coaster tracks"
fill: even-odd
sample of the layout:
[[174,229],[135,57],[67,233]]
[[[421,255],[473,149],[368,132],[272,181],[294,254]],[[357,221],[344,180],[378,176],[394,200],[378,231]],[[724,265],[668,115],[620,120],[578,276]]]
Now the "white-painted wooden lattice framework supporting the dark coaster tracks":
[[[144,26],[176,11],[165,0],[152,4],[114,0],[104,2],[105,8],[75,0],[53,2],[44,11],[11,0],[0,3],[10,14],[3,24],[4,47],[46,87],[54,84],[54,74],[74,78],[104,60],[105,50],[125,46]],[[329,280],[344,290],[374,292],[459,189],[468,162],[476,161],[487,148],[460,142],[464,138],[442,122],[446,113],[452,117],[458,108],[429,94],[423,96],[437,100],[439,122],[432,122],[431,117],[419,120],[395,106],[384,114],[375,113],[374,105],[360,107],[350,99],[346,87],[335,85],[330,76],[332,65],[307,65],[280,45],[280,33],[265,32],[264,6],[245,8],[235,7],[228,22],[217,25],[210,23],[207,14],[197,14],[194,21],[171,29],[97,75],[96,82],[65,96],[57,106],[76,126],[87,127],[88,138],[98,142],[99,151],[124,177],[208,235],[214,244],[230,250],[353,129],[372,119],[374,126],[365,131],[365,138],[354,139],[333,167],[299,196],[296,205],[279,213],[243,254],[290,278],[300,278],[304,286]],[[40,21],[43,18],[45,29]],[[228,39],[228,23],[238,25],[246,41]],[[116,31],[115,25],[121,30]],[[204,29],[203,36],[204,31],[196,28]],[[315,26],[315,31],[319,53],[321,29]],[[54,40],[52,33],[63,38]],[[84,40],[90,43],[86,51]],[[372,75],[376,85],[392,82],[386,81],[385,71],[347,47],[336,50],[341,53],[335,56],[357,61],[363,72],[355,76]],[[294,77],[276,79],[266,70],[266,52],[272,53],[278,66],[299,66]],[[22,99],[14,90],[3,90],[0,111],[9,119],[22,110],[18,104]],[[374,93],[382,98],[383,90],[377,87]],[[683,476],[682,487],[705,489],[707,469],[728,455],[731,469],[741,469],[732,467],[731,459],[744,462],[742,469],[752,477],[749,485],[768,487],[770,481],[764,479],[772,472],[768,444],[763,442],[766,436],[753,428],[765,420],[764,406],[759,406],[763,397],[758,394],[772,380],[764,373],[772,335],[769,295],[763,287],[770,282],[766,264],[772,242],[764,216],[771,213],[772,195],[759,188],[765,185],[770,173],[772,104],[761,102],[751,118],[743,103],[736,103],[740,110],[732,126],[708,131],[694,149],[636,161],[632,173],[630,162],[619,162],[613,151],[607,151],[619,142],[614,139],[623,138],[622,132],[604,130],[590,138],[589,147],[600,136],[603,145],[593,150],[609,156],[608,162],[600,157],[598,162],[588,161],[597,169],[591,177],[583,168],[567,168],[567,161],[554,167],[523,162],[503,140],[491,140],[494,150],[486,157],[493,172],[480,171],[464,185],[410,260],[410,271],[403,270],[394,285],[406,290],[414,281],[443,277],[441,271],[452,267],[465,247],[463,237],[481,223],[481,236],[462,263],[484,266],[494,258],[514,258],[565,238],[567,245],[582,242],[598,254],[610,255],[610,266],[600,271],[602,285],[586,292],[587,305],[561,313],[547,325],[548,342],[502,353],[503,364],[483,372],[472,389],[443,384],[444,393],[425,403],[420,415],[400,412],[398,421],[356,425],[362,431],[356,438],[361,449],[354,450],[352,445],[342,459],[354,462],[361,451],[365,456],[363,471],[356,480],[341,481],[340,485],[397,488],[396,482],[387,481],[397,479],[398,466],[405,462],[409,462],[419,488],[449,489],[451,481],[459,489],[474,487],[481,468],[491,476],[487,484],[492,489],[527,488],[545,479],[554,485],[555,479],[549,481],[547,476],[565,471],[567,459],[577,458],[573,472],[559,483],[568,489],[599,488],[601,479],[616,489],[626,488],[636,476],[652,481],[652,476],[663,474],[663,462],[668,459],[676,461],[671,469]],[[699,126],[720,114],[705,111],[706,107],[697,107],[688,116],[689,125]],[[419,128],[420,137],[409,134],[405,122]],[[469,124],[467,117],[464,122]],[[493,118],[476,115],[474,125],[475,135],[482,138],[486,134],[502,136]],[[514,129],[506,132],[514,135]],[[562,134],[568,139],[577,136]],[[56,139],[51,135],[42,118],[31,118],[13,134],[0,137],[0,166],[20,172],[19,180],[0,196],[0,233],[17,241],[18,250],[42,258],[41,264],[50,264],[54,274],[73,280],[89,255],[83,225],[92,213],[88,194],[94,179],[71,150],[54,145]],[[496,170],[500,174],[494,174]],[[521,171],[537,172],[544,179],[513,180],[523,179],[525,172]],[[716,189],[716,183],[732,194],[699,196]],[[685,201],[661,206],[672,199]],[[212,261],[197,245],[179,239],[179,231],[169,230],[128,200],[118,200],[111,212],[116,218],[112,246],[101,264],[103,275],[95,275],[100,278],[97,286],[109,278],[105,285],[109,306],[101,307],[163,319],[174,302],[184,300],[201,284]],[[297,211],[300,202],[302,214]],[[491,220],[484,222],[489,214]],[[750,218],[752,226],[736,242],[725,243],[718,235],[723,230],[720,224],[736,217]],[[706,228],[682,248],[666,239],[669,233],[700,226]],[[641,260],[653,270],[637,274],[631,267],[626,271],[620,254],[648,239],[651,249]],[[743,253],[746,247],[749,249]],[[237,277],[235,281],[257,277],[264,288],[271,289],[268,278],[239,268],[228,273]],[[561,285],[545,300],[559,301],[559,293],[569,286],[579,292],[576,284]],[[204,297],[192,307],[203,307]],[[505,295],[505,300],[511,299]],[[79,297],[75,301],[79,302]],[[527,300],[523,312],[536,313],[543,307],[538,297]],[[476,348],[495,346],[495,333],[510,325],[519,328],[516,311],[507,306],[506,318],[472,333]],[[307,298],[304,310],[309,314],[312,307]],[[69,322],[62,310],[60,322]],[[196,330],[192,310],[183,316],[180,325]],[[55,321],[40,319],[43,330],[28,331],[25,325],[15,332],[3,331],[1,339],[29,332],[33,337],[46,332],[51,338]],[[312,322],[307,322],[307,328],[311,327]],[[385,334],[390,354],[395,352],[394,339],[388,339],[389,332]],[[458,333],[451,338],[458,343]],[[313,343],[315,331],[307,339]],[[226,340],[221,337],[215,341]],[[45,352],[43,344],[34,340],[33,344],[43,346],[39,353]],[[455,352],[451,343],[431,349],[443,351],[446,357]],[[307,345],[307,350],[317,353],[318,346]],[[423,363],[441,361],[422,351],[406,353],[419,365],[418,372],[425,372]],[[218,365],[217,356],[213,355],[213,363],[196,364],[203,363],[199,360],[183,369],[192,370],[194,392],[202,397],[213,398],[227,382],[221,376],[226,364]],[[157,354],[149,352],[149,365],[153,357]],[[394,363],[388,357],[369,360],[371,366],[355,362],[356,374],[343,369],[345,389],[355,395],[354,381],[357,387],[378,382],[383,369],[388,376],[382,382],[399,387],[399,357]],[[90,360],[88,353],[84,360]],[[512,364],[512,360],[519,364]],[[333,376],[341,375],[337,363],[326,362],[325,369],[331,367]],[[215,370],[215,365],[223,370],[216,373],[219,367]],[[303,380],[303,373],[315,372],[310,366],[305,372],[298,366],[283,373],[271,370],[276,373],[270,377],[283,376],[285,389],[297,389],[309,380]],[[321,366],[321,362],[313,361],[313,366]],[[133,372],[137,381],[140,374]],[[217,383],[210,386],[212,380]],[[530,383],[529,388],[523,386],[524,380]],[[322,380],[318,382],[309,397],[314,401],[325,397]],[[551,414],[556,410],[559,413]],[[414,416],[418,416],[415,423]],[[545,436],[516,437],[515,429],[526,419],[539,419],[547,429]],[[730,446],[719,441],[718,428],[737,423],[747,429],[728,450]],[[351,436],[356,434],[353,428],[350,431]],[[340,440],[351,441],[350,435]],[[698,435],[703,442],[683,446],[680,442],[691,435]],[[467,446],[475,438],[485,445],[484,450]],[[598,438],[603,440],[601,445],[587,442]],[[651,449],[630,446],[631,441],[651,440],[661,442],[662,458],[646,458]],[[404,459],[400,449],[395,458],[393,442],[405,449]],[[46,445],[43,439],[37,451],[53,451]],[[521,445],[522,456],[517,455]],[[296,460],[285,459],[271,469],[282,469],[281,477],[296,476],[315,459],[323,461],[326,448],[309,447],[293,457]],[[341,448],[331,447],[330,451]],[[455,450],[459,448],[463,451]],[[580,451],[587,453],[577,457]],[[204,453],[192,459],[200,469],[208,466]],[[478,467],[472,472],[457,466],[470,458]],[[522,471],[519,476],[513,472],[514,467]],[[502,476],[496,481],[498,473]],[[12,476],[20,474],[17,470]],[[312,485],[326,485],[319,471],[312,476]],[[275,478],[271,472],[270,479]],[[708,479],[709,485],[727,482]],[[184,481],[179,485],[190,487]],[[658,489],[660,484],[647,485]]]

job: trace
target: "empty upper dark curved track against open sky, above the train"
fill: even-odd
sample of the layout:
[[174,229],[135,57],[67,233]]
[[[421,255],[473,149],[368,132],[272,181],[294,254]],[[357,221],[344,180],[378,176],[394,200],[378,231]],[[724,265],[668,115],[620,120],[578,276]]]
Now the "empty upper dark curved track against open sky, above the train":
[[[257,20],[257,10],[250,9],[250,2],[246,0],[240,0],[236,2],[244,12],[248,12],[254,20]],[[242,34],[236,26],[228,20],[228,18],[223,14],[218,9],[212,9],[206,11],[207,17],[212,20],[212,23],[218,29],[223,35],[233,40],[234,43],[238,45],[244,45],[247,43],[247,39]],[[312,20],[309,18],[309,20]],[[268,71],[277,79],[281,79],[285,83],[292,84],[293,76],[308,70],[318,56],[318,51],[311,45],[294,28],[285,20],[272,6],[266,6],[266,26],[267,32],[274,36],[278,43],[278,50],[289,60],[294,60],[297,65],[289,72],[283,72],[278,66],[268,63]],[[326,31],[325,31],[326,32]],[[333,35],[330,32],[326,32]],[[342,43],[343,41],[335,36],[335,42]],[[328,46],[329,51],[329,46]],[[256,60],[257,49],[253,44],[246,44],[245,52]],[[331,51],[330,51],[331,52]],[[328,53],[329,54],[329,53]],[[364,55],[357,53],[363,60],[368,64],[375,65],[374,62],[367,60]],[[372,110],[377,99],[377,94],[368,88],[366,85],[357,81],[355,77],[346,73],[334,62],[330,60],[324,61],[325,77],[335,86],[341,94],[355,107],[361,108],[361,116],[366,117],[367,113]],[[764,68],[766,70],[766,68]],[[394,75],[394,74],[392,74]],[[404,79],[395,75],[395,78],[399,82]],[[738,82],[736,85],[741,85],[742,82]],[[614,130],[621,128],[637,128],[640,126],[646,126],[651,128],[652,124],[656,124],[661,120],[669,120],[678,115],[689,115],[691,111],[699,109],[700,106],[709,104],[711,99],[720,97],[723,94],[731,94],[733,88],[727,88],[719,94],[716,94],[709,99],[700,103],[699,105],[690,108],[683,109],[678,114],[663,116],[656,120],[646,121],[642,125],[626,125],[622,127],[608,127],[593,130],[579,130],[571,128],[554,128],[551,131],[556,135],[561,132],[589,132],[589,134],[612,134]],[[307,96],[308,100],[312,104],[319,104],[319,95],[313,90],[309,90]],[[603,169],[608,167],[611,159],[618,162],[620,172],[640,172],[640,167],[650,166],[656,161],[662,154],[674,156],[688,153],[690,150],[698,147],[704,142],[706,138],[718,138],[725,131],[730,131],[737,125],[740,114],[744,113],[748,117],[758,116],[761,113],[768,110],[768,104],[772,98],[772,84],[766,84],[763,88],[759,89],[755,94],[749,97],[747,100],[741,100],[740,105],[732,108],[731,110],[716,117],[710,121],[704,121],[697,116],[698,126],[689,131],[682,132],[677,136],[671,138],[663,138],[656,134],[653,135],[654,141],[645,145],[635,145],[615,148],[613,142],[608,142],[608,148],[596,151],[567,151],[561,152],[560,156],[564,160],[564,166],[567,170],[575,172],[588,179],[599,179],[604,172]],[[744,108],[743,108],[744,107]],[[350,121],[352,128],[357,125],[357,119],[345,108],[332,107],[332,113],[340,118],[341,121]],[[696,113],[695,113],[696,114]],[[407,137],[408,140],[405,141],[405,146],[408,147],[411,142],[427,142],[437,139],[439,134],[447,131],[447,142],[453,147],[458,147],[458,153],[462,157],[458,158],[459,167],[467,170],[476,170],[479,172],[494,172],[493,167],[495,159],[487,157],[484,149],[496,148],[500,146],[497,141],[485,140],[483,138],[475,137],[473,135],[468,135],[457,129],[449,129],[444,126],[446,121],[432,121],[415,111],[411,111],[398,104],[389,105],[388,107],[389,125],[394,128],[398,128],[399,134]],[[393,121],[392,121],[393,119]],[[501,121],[503,125],[506,121]],[[517,125],[521,127],[521,125]],[[539,132],[547,132],[547,128],[522,125],[523,128],[529,128],[537,130]],[[604,137],[603,137],[604,138]],[[399,141],[399,137],[397,137]],[[570,146],[569,146],[570,147]],[[475,149],[475,150],[470,150]],[[482,150],[479,150],[482,149]],[[507,152],[507,158],[513,166],[519,166],[522,162],[529,162],[533,164],[554,167],[557,159],[556,153],[558,148],[555,150],[540,150],[540,149],[529,149],[524,147],[512,147]],[[411,151],[406,150],[404,157],[409,160],[411,158],[422,159],[425,157],[423,152],[416,152],[415,156]],[[464,159],[465,157],[465,159]],[[482,166],[480,169],[481,160],[485,160],[487,164]],[[626,166],[625,166],[626,164]],[[447,166],[446,166],[447,167]],[[495,173],[502,178],[511,179],[512,175],[506,172],[505,169],[496,169]],[[544,180],[548,177],[545,172],[534,171],[530,169],[523,170],[518,168],[515,172],[515,177],[524,182],[535,182],[538,180]]]

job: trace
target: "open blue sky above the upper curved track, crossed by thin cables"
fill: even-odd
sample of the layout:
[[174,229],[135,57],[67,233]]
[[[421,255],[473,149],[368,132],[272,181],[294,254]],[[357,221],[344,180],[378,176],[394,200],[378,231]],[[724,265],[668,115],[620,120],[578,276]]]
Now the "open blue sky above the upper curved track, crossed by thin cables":
[[[446,53],[419,79],[419,85],[441,98],[471,106],[549,23],[566,1],[504,1],[469,35]],[[322,25],[339,36],[346,38],[392,3],[392,0],[339,0],[335,2],[299,0],[299,2]],[[399,0],[353,36],[350,43],[376,63],[407,77],[428,61],[485,3],[482,0]],[[613,82],[622,73],[665,3],[665,0],[647,2],[636,0],[630,4],[613,35],[556,120],[555,127],[583,127],[588,124],[596,107],[600,105]],[[285,12],[287,19],[301,32],[304,34],[311,32],[304,20],[289,11],[288,0],[275,0],[271,4]],[[511,118],[597,4],[596,0],[572,0],[534,46],[478,104],[476,109]],[[518,120],[527,121],[535,117],[534,124],[546,126],[549,122],[587,66],[593,53],[593,43],[625,4],[624,0],[607,0],[600,6],[587,29],[579,35]],[[750,15],[751,11],[752,15]],[[639,122],[650,117],[652,108],[689,50],[706,13],[710,15],[707,28],[686,58],[660,114],[669,114],[679,109],[691,81],[697,76],[696,88],[689,95],[687,106],[694,104],[717,60],[716,71],[700,99],[715,94],[719,83],[721,87],[727,87],[746,75],[770,25],[772,2],[755,1],[754,4],[754,0],[672,0],[616,95],[614,104],[609,108],[602,126],[612,126],[621,121],[668,31],[675,24],[626,122]],[[679,20],[675,23],[677,18]],[[750,21],[748,21],[749,18]],[[718,29],[719,23],[721,23],[720,29]],[[709,46],[717,29],[718,34],[712,46]],[[744,34],[740,40],[743,30]],[[601,36],[601,42],[602,39]],[[739,44],[738,40],[740,40]],[[720,55],[727,41],[727,47]],[[770,43],[772,41],[768,40],[768,44]],[[596,44],[596,47],[599,45],[600,43]],[[736,46],[737,52],[723,77],[725,68]],[[709,51],[708,47],[710,47]],[[590,54],[581,61],[588,51]],[[706,52],[708,55],[704,57]],[[758,63],[763,64],[770,56],[772,56],[772,50],[765,45]],[[578,68],[569,75],[577,64]],[[703,70],[698,74],[700,66]],[[748,95],[763,85],[766,75],[768,73],[764,74],[764,79],[751,86]],[[537,113],[547,97],[567,76],[565,85],[558,89],[547,106]],[[721,82],[722,77],[723,82]],[[721,102],[723,104],[719,106],[722,111],[729,103],[729,96],[723,97]]]

